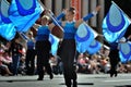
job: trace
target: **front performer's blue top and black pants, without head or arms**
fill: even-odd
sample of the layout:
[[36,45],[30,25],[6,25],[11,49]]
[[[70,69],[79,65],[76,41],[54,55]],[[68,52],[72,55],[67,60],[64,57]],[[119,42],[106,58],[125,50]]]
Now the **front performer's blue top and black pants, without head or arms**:
[[75,60],[75,39],[74,35],[76,28],[74,27],[75,22],[66,23],[63,41],[61,42],[59,55],[63,63],[63,75],[66,85],[71,87],[73,80],[73,87],[76,87],[76,72],[74,70],[74,60]]

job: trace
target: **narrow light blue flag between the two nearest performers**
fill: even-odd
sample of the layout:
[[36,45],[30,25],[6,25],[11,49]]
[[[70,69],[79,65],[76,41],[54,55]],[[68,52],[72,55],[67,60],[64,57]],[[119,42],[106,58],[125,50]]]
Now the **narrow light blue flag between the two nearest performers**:
[[49,41],[51,42],[51,54],[57,55],[59,39],[52,34],[49,35]]

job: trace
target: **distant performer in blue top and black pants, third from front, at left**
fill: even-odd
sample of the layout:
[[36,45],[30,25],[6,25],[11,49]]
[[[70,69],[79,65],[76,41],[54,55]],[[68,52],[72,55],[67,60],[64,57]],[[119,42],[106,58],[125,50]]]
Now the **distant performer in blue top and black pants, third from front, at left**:
[[28,40],[27,40],[27,50],[26,50],[26,59],[25,59],[25,66],[26,66],[26,74],[34,75],[35,70],[35,40],[33,37],[33,33],[28,33]]

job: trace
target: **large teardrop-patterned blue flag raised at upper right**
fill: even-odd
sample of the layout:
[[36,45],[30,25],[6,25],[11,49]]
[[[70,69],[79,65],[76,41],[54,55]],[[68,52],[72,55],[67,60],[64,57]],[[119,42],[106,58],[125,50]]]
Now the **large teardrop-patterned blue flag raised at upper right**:
[[129,17],[115,3],[110,5],[109,12],[103,21],[103,34],[108,42],[119,40],[126,33],[127,27],[130,25]]

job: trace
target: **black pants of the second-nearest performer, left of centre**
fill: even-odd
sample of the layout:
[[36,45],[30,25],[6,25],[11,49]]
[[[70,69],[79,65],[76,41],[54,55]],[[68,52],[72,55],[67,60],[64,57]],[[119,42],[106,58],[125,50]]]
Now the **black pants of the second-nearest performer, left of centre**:
[[44,78],[44,66],[47,73],[52,74],[51,67],[49,64],[51,45],[48,40],[37,41],[36,42],[36,53],[37,53],[37,72],[40,79]]

